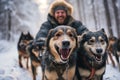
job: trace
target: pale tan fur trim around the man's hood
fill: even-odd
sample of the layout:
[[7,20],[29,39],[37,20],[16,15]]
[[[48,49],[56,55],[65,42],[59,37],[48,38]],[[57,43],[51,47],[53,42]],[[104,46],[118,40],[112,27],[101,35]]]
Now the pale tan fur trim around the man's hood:
[[54,8],[56,6],[64,6],[67,8],[67,14],[68,15],[72,15],[73,13],[73,6],[71,4],[69,4],[68,2],[66,2],[65,0],[55,0],[51,5],[50,5],[50,8],[49,8],[49,14],[51,16],[53,16],[54,14]]

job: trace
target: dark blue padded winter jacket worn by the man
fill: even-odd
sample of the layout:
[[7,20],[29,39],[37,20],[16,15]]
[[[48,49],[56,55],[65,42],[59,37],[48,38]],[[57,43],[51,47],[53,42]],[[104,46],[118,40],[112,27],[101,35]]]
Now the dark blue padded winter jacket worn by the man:
[[[40,30],[35,38],[36,40],[46,38],[50,29],[60,25],[50,14],[48,14],[47,20],[48,21],[44,22],[40,27]],[[68,16],[63,25],[75,28],[78,35],[81,35],[83,32],[88,31],[88,29],[85,26],[83,26],[83,24],[80,21],[74,20],[72,16]]]

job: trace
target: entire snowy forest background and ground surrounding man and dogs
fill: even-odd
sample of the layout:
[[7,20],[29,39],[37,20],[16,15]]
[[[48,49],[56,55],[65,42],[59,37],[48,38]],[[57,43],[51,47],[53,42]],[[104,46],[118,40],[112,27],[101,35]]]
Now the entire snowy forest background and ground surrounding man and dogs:
[[[21,32],[33,37],[47,20],[49,6],[54,0],[0,0],[0,80],[32,80],[29,70],[20,68],[17,44]],[[66,0],[73,5],[72,16],[90,31],[104,28],[107,36],[120,38],[120,0]],[[103,80],[120,80],[108,56]],[[25,63],[25,61],[24,61]],[[29,65],[30,66],[30,65]],[[41,67],[41,66],[39,66]],[[37,80],[42,80],[41,68]]]

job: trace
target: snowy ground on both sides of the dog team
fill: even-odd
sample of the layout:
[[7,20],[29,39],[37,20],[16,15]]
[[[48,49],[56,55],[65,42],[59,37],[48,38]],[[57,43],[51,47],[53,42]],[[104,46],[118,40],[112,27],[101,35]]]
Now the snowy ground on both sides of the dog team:
[[[20,68],[18,65],[16,43],[0,41],[0,45],[0,80],[32,80],[31,71]],[[40,74],[39,69],[37,80],[41,80]],[[118,67],[113,68],[111,64],[107,64],[104,80],[120,80]]]

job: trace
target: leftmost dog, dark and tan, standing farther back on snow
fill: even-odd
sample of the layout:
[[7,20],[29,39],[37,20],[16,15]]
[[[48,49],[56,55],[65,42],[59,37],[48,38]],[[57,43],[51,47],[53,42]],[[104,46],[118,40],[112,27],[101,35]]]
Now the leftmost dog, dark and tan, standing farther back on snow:
[[23,68],[22,59],[25,58],[25,59],[27,59],[26,67],[28,69],[29,55],[26,52],[26,46],[29,44],[29,42],[31,40],[33,40],[33,37],[29,32],[28,33],[23,33],[23,32],[21,33],[18,44],[17,44],[19,66],[21,68]]

